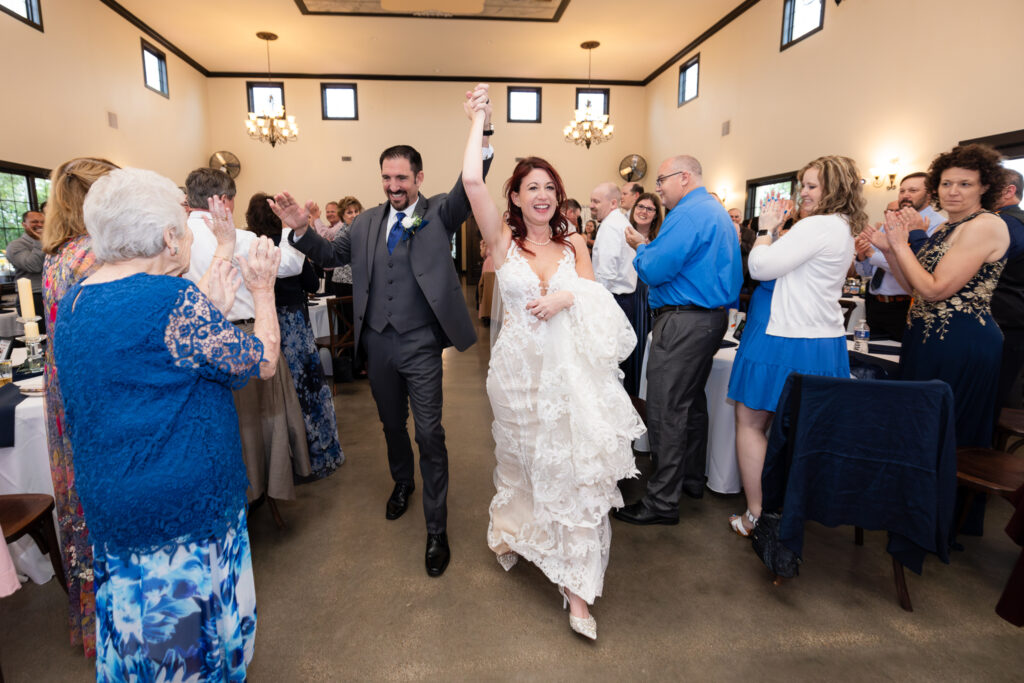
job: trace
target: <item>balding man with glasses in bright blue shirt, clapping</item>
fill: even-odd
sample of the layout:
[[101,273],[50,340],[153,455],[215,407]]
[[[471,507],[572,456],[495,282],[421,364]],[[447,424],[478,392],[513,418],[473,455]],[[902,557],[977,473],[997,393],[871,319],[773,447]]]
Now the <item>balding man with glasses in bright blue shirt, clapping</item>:
[[[612,515],[632,524],[679,523],[679,498],[703,495],[708,452],[705,384],[739,296],[739,240],[703,186],[700,163],[674,157],[655,182],[669,209],[654,242],[636,230],[634,266],[649,288],[654,327],[647,359],[647,430],[654,471],[646,495]],[[640,340],[639,343],[644,343]]]

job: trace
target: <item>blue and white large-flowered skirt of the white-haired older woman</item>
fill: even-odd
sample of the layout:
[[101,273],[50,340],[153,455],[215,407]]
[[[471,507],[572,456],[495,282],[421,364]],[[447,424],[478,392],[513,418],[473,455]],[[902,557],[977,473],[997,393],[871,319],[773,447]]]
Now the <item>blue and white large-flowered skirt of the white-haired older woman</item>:
[[223,538],[95,550],[97,681],[246,680],[256,591],[245,508]]

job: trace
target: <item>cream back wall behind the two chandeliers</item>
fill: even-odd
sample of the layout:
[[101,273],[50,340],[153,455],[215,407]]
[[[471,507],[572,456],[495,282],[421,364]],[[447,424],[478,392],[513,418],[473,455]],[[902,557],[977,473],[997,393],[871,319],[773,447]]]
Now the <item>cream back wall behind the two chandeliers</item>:
[[[469,131],[462,101],[475,83],[359,81],[358,121],[324,121],[319,84],[312,79],[285,81],[285,101],[288,113],[296,117],[299,137],[270,147],[249,138],[243,126],[248,106],[246,81],[209,80],[210,151],[227,150],[242,162],[237,179],[238,220],[243,220],[248,199],[256,191],[288,189],[322,207],[328,201],[353,195],[364,206],[375,206],[384,201],[378,160],[392,144],[412,144],[423,156],[421,191],[432,195],[451,188],[462,167]],[[642,152],[646,137],[643,89],[611,88],[610,117],[615,134],[608,142],[587,150],[565,142],[562,136],[572,116],[575,86],[541,87],[542,123],[509,124],[507,86],[492,85],[496,128],[492,138],[495,162],[488,176],[492,195],[500,200],[515,158],[536,155],[558,169],[569,196],[586,206],[595,185],[616,178],[623,157]],[[343,156],[352,161],[342,162]]]

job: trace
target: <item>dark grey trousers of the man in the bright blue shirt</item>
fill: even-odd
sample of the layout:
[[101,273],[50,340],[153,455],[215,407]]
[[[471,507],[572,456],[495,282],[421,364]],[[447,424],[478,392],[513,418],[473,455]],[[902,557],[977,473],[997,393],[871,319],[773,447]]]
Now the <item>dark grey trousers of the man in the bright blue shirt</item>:
[[647,359],[647,429],[655,467],[644,504],[658,514],[679,514],[684,479],[703,484],[705,385],[728,324],[725,310],[676,311],[654,318]]

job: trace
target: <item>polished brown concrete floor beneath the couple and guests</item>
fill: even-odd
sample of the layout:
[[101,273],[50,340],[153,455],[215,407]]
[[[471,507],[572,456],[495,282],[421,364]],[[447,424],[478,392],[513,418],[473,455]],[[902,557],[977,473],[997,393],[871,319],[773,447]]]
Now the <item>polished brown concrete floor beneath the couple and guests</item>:
[[[885,535],[853,544],[850,527],[808,524],[801,575],[773,586],[750,543],[728,530],[741,497],[684,499],[678,526],[613,522],[598,640],[569,631],[555,587],[534,566],[506,573],[487,550],[494,493],[486,331],[444,353],[453,561],[423,568],[419,489],[401,519],[384,438],[366,382],[341,385],[347,462],[250,529],[259,608],[250,680],[899,680],[1020,681],[1024,633],[993,611],[1019,548],[989,507],[986,535],[949,565],[907,572],[914,611],[900,609]],[[0,663],[8,683],[88,681],[68,643],[65,594],[53,582],[0,600]]]

